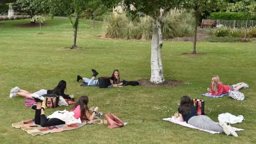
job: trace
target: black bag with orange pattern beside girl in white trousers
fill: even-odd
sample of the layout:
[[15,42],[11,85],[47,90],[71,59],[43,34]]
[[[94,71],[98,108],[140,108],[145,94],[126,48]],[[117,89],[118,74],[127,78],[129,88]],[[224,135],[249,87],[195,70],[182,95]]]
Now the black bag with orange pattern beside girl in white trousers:
[[59,102],[59,96],[56,94],[44,94],[44,101],[42,102],[42,106],[46,108],[56,108]]

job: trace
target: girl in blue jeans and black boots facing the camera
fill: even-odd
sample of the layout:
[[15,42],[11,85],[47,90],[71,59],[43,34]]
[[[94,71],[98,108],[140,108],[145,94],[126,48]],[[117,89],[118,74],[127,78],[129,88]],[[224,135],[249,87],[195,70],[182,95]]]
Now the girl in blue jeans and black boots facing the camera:
[[[95,80],[96,76],[99,73],[94,69],[92,69],[92,72],[93,72],[93,75],[92,75],[91,79],[77,75],[76,81],[79,82],[79,80],[83,80],[85,83],[88,84],[88,86],[99,86],[99,80]],[[114,70],[114,72],[111,74],[109,79],[110,79],[110,86],[108,86],[108,87],[122,86],[123,85],[123,83],[120,82],[120,74],[119,74],[119,71],[117,69]]]

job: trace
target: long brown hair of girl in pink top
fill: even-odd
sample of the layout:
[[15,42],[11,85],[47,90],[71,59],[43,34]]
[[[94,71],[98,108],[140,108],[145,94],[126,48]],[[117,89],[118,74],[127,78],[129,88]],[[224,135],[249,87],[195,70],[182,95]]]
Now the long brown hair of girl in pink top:
[[71,110],[74,110],[77,106],[80,105],[81,118],[86,117],[86,110],[89,112],[89,108],[87,106],[88,102],[89,102],[88,96],[81,96],[79,100],[71,108]]

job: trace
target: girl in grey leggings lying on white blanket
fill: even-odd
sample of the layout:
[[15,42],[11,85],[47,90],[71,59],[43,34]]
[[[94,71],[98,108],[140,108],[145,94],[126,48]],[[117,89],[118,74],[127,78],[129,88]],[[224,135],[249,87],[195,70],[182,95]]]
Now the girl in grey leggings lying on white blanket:
[[231,134],[233,136],[238,136],[232,127],[224,122],[220,121],[219,123],[216,123],[208,116],[198,116],[196,107],[188,96],[182,96],[178,112],[181,122],[186,121],[186,123],[204,130],[225,132],[227,135]]

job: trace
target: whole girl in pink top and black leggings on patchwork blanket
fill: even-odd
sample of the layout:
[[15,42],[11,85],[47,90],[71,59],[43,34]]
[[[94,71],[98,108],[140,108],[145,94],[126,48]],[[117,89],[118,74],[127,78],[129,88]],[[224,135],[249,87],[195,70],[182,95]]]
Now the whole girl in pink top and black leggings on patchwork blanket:
[[32,96],[37,104],[31,106],[35,112],[35,124],[38,124],[42,127],[48,126],[57,126],[61,124],[74,124],[74,123],[82,123],[81,120],[93,120],[94,116],[98,110],[98,107],[94,109],[92,115],[90,115],[90,111],[88,109],[88,97],[81,96],[80,99],[76,102],[73,108],[69,111],[56,111],[49,116],[45,116],[44,107],[42,106],[42,102],[44,100],[43,96],[38,94],[34,94]]

